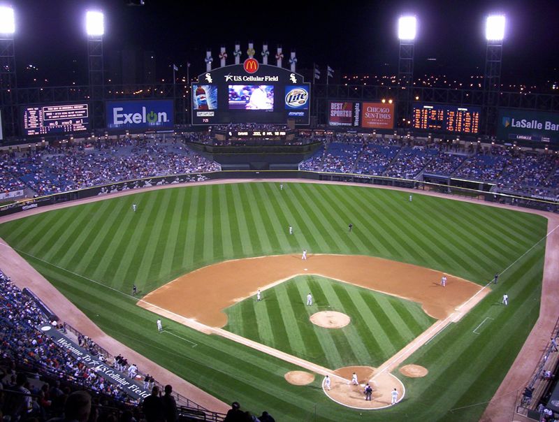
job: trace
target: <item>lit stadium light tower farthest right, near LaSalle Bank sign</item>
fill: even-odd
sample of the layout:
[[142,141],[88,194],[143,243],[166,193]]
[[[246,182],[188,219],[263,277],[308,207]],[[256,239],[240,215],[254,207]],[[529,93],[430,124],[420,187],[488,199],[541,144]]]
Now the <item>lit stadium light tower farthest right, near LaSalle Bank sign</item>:
[[485,38],[487,49],[484,74],[484,110],[482,113],[483,128],[486,135],[493,134],[498,119],[504,24],[504,15],[491,15],[486,18]]

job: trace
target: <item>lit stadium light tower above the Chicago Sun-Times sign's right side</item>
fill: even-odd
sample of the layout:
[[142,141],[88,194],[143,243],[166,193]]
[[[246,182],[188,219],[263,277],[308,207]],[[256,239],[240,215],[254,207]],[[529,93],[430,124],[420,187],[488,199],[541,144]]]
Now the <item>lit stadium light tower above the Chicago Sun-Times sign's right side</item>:
[[415,16],[401,16],[398,19],[398,38],[400,53],[398,56],[398,125],[407,126],[412,117],[412,90],[414,86],[414,45],[417,33]]

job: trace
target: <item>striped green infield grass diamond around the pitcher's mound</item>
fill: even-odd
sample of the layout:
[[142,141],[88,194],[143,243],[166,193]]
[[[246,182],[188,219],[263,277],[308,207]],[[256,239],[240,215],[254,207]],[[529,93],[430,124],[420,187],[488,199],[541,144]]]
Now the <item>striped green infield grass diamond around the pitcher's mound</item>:
[[[342,312],[351,323],[315,326],[310,316],[320,311]],[[331,369],[377,367],[436,321],[419,303],[317,275],[293,277],[266,290],[260,302],[247,298],[226,314],[226,330]]]

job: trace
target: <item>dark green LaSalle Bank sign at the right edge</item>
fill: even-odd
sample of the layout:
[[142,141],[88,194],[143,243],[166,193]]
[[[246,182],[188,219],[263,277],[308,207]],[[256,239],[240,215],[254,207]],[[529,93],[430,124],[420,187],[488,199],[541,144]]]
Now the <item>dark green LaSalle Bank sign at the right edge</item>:
[[497,137],[505,142],[559,143],[559,113],[500,108]]

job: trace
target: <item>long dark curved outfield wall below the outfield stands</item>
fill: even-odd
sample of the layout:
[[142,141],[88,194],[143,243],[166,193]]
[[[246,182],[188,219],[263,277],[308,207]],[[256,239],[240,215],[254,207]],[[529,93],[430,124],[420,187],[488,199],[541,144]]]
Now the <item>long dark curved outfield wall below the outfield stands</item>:
[[[489,186],[482,182],[467,181],[461,182],[462,186],[453,186],[447,183],[425,182],[421,180],[398,179],[396,177],[358,175],[354,173],[326,173],[303,170],[221,170],[211,173],[189,173],[185,175],[145,177],[138,180],[127,180],[125,182],[115,182],[103,184],[87,189],[68,191],[60,194],[41,196],[27,201],[11,203],[0,207],[0,217],[29,210],[31,208],[53,205],[75,201],[92,196],[112,194],[119,191],[139,189],[152,186],[167,184],[187,184],[189,182],[200,182],[203,180],[225,180],[225,179],[307,179],[307,180],[328,180],[333,182],[351,182],[363,184],[378,184],[388,187],[402,187],[407,189],[418,189],[421,191],[437,191],[451,196],[466,196],[479,201],[502,203],[506,205],[516,205],[518,207],[542,210],[548,212],[559,212],[559,203],[556,201],[545,201],[522,194],[500,194],[490,192]],[[470,189],[471,186],[479,189]]]

